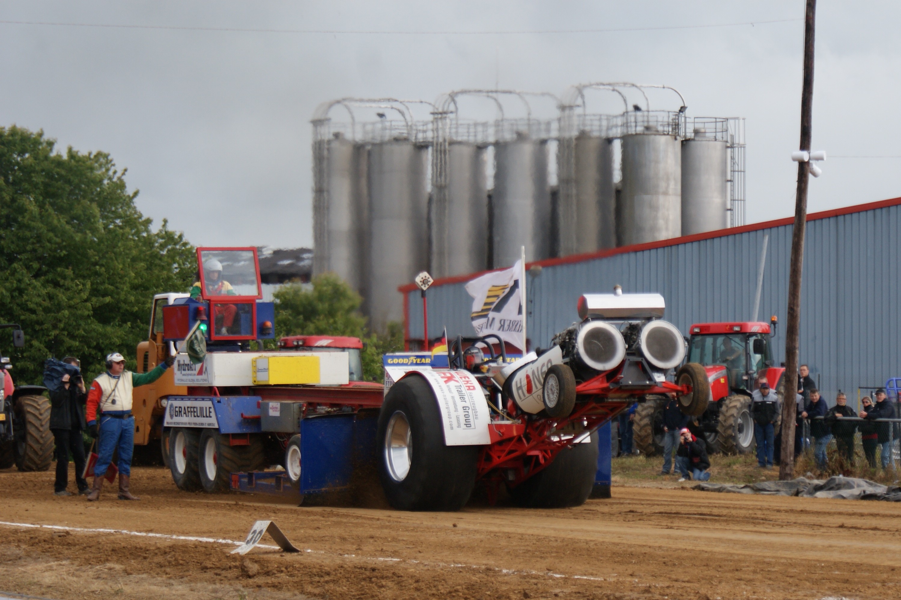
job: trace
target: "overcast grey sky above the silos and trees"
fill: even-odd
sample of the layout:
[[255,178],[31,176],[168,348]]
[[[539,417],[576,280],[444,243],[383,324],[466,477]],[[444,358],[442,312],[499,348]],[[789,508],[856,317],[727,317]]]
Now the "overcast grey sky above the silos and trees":
[[[139,208],[196,245],[310,246],[309,120],[324,100],[432,101],[495,85],[560,95],[587,81],[666,84],[686,97],[692,115],[747,118],[754,222],[794,210],[789,155],[798,140],[803,14],[803,0],[6,0],[0,124],[42,129],[61,148],[109,152],[128,168],[129,187],[140,190]],[[779,20],[792,21],[763,23]],[[497,33],[743,22],[758,24]],[[901,158],[838,157],[901,156],[901,120],[887,112],[901,93],[899,23],[901,3],[818,3],[814,148],[831,157],[811,185],[811,211],[899,195]]]

